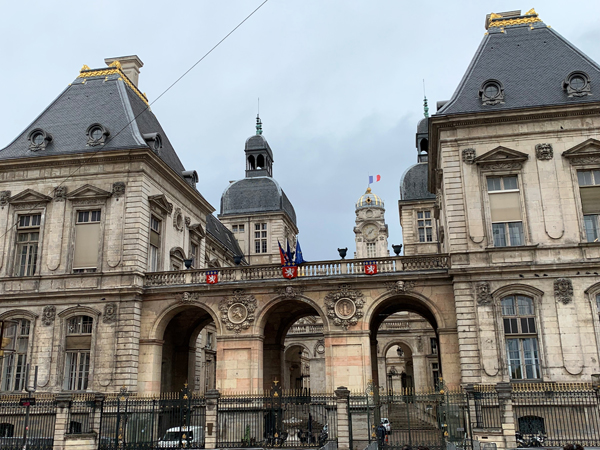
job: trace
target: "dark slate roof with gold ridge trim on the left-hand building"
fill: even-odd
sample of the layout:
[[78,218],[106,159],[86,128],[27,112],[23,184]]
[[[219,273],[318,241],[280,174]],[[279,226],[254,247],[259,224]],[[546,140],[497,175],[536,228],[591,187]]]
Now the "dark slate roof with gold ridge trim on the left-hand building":
[[[0,150],[0,159],[149,148],[142,134],[160,133],[162,148],[158,156],[181,175],[185,168],[156,116],[149,109],[144,111],[142,94],[124,78],[115,67],[82,71],[13,142]],[[110,132],[104,145],[88,145],[86,131],[94,123]],[[29,148],[29,133],[36,128],[52,136],[44,150]]]

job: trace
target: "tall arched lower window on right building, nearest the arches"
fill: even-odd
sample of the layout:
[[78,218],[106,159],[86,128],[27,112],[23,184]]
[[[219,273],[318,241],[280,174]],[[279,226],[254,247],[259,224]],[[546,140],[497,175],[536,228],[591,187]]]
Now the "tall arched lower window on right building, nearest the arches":
[[504,297],[502,319],[510,378],[541,378],[533,299],[524,295]]

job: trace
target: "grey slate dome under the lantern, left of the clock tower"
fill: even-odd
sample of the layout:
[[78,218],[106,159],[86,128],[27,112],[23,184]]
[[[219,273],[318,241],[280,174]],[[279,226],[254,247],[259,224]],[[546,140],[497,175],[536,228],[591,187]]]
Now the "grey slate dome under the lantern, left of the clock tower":
[[283,211],[296,223],[292,203],[271,177],[243,178],[227,186],[221,196],[221,216]]

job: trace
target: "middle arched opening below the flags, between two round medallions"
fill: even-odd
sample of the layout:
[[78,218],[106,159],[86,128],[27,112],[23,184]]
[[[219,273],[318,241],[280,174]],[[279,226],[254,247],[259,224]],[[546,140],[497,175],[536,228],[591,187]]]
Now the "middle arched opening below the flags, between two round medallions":
[[[306,372],[308,372],[310,375],[312,372],[311,346],[300,345],[297,342],[294,345],[294,341],[301,338],[303,334],[302,330],[296,328],[306,325],[307,335],[302,337],[303,341],[314,341],[315,349],[317,349],[315,351],[320,349],[319,343],[323,339],[324,327],[320,312],[308,301],[285,300],[273,305],[263,317],[263,388],[269,389],[275,381],[288,389],[296,389],[298,385],[311,387],[311,378],[303,376],[303,373],[307,375]],[[303,318],[310,319],[300,320]],[[309,326],[311,324],[314,325],[312,328]],[[286,343],[288,352],[284,354]],[[295,354],[292,350],[294,348],[296,348]],[[289,367],[286,359],[290,363]],[[292,369],[292,366],[297,366],[297,368]],[[290,373],[290,369],[292,373]]]

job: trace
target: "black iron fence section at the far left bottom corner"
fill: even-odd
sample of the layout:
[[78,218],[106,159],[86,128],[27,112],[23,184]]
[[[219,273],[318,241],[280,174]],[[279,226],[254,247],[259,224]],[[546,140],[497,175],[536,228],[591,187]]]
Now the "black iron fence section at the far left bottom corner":
[[0,398],[0,449],[52,450],[56,401],[51,394],[38,394],[33,402],[23,402],[28,394]]

